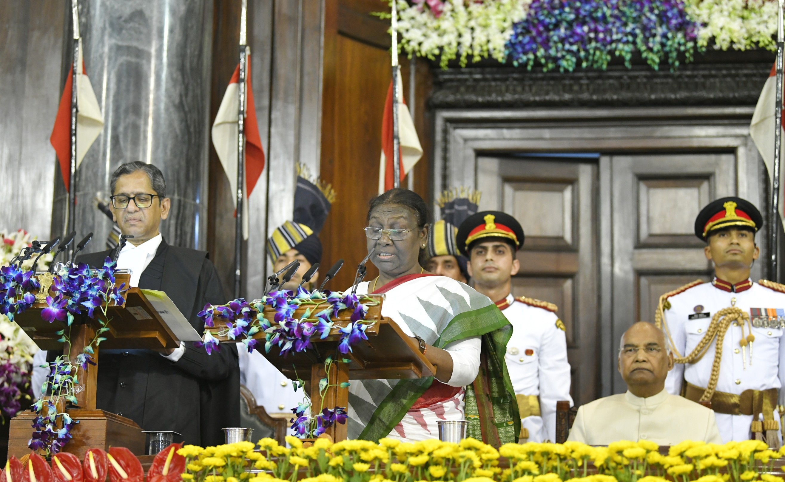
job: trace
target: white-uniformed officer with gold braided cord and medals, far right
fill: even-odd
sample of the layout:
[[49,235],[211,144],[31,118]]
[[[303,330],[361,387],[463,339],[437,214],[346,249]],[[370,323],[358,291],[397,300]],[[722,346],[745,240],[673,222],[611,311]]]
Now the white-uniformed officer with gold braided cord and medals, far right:
[[666,390],[710,400],[724,442],[757,438],[779,447],[785,287],[750,280],[762,223],[758,208],[741,198],[718,199],[703,208],[695,230],[707,243],[714,280],[693,281],[663,295],[655,321],[676,361]]

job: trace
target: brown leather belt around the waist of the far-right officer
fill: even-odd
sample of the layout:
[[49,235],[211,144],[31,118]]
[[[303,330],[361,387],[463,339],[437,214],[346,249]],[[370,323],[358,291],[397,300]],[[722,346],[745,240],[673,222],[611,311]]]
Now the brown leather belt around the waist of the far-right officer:
[[[697,402],[705,392],[705,388],[687,382],[684,397]],[[774,409],[780,394],[776,388],[769,390],[744,390],[740,395],[715,390],[711,397],[711,409],[717,413],[728,415],[753,415],[752,432],[755,437],[762,436],[764,430],[779,430],[780,424],[774,419]],[[763,414],[763,421],[758,417]],[[767,440],[768,438],[767,433]],[[773,435],[776,439],[776,434]],[[758,438],[758,440],[761,440]]]

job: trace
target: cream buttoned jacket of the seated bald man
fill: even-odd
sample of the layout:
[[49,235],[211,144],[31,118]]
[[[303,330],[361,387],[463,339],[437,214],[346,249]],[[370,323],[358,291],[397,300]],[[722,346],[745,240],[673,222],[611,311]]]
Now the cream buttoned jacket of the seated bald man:
[[628,391],[582,405],[567,440],[589,445],[618,440],[650,440],[659,445],[684,440],[721,443],[714,411],[666,390],[647,398]]

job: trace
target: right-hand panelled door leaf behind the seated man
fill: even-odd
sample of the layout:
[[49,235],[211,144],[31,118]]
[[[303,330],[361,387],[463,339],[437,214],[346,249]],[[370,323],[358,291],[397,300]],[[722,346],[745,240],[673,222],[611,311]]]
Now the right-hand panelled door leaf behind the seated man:
[[[603,156],[610,166],[612,353],[635,321],[654,321],[659,296],[710,280],[705,244],[694,234],[709,201],[736,194],[733,154]],[[614,364],[615,366],[615,364]],[[626,385],[614,370],[613,392]]]

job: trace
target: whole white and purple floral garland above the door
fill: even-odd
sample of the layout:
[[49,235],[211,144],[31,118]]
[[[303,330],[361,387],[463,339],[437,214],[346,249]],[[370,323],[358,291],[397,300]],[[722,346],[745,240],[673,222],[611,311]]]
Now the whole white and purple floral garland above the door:
[[[775,0],[396,0],[400,49],[411,56],[604,70],[640,53],[675,70],[696,51],[776,49]],[[379,16],[389,17],[389,13]]]

